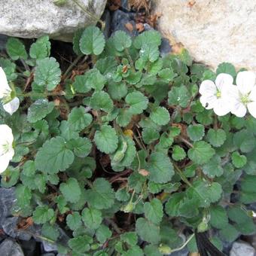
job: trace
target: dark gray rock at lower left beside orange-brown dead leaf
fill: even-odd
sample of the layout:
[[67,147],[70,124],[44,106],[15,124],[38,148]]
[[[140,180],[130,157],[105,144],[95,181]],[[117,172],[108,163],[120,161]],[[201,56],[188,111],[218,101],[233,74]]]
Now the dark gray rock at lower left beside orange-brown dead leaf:
[[3,230],[12,238],[18,238],[26,241],[30,240],[32,237],[30,233],[26,232],[26,230],[17,230],[18,219],[18,217],[6,218],[5,223],[2,224]]

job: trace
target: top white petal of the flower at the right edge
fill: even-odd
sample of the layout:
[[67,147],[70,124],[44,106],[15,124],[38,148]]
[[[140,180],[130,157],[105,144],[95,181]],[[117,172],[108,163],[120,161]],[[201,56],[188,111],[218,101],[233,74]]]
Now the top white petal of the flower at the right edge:
[[250,93],[255,85],[255,74],[251,71],[242,71],[237,74],[236,85],[241,93]]

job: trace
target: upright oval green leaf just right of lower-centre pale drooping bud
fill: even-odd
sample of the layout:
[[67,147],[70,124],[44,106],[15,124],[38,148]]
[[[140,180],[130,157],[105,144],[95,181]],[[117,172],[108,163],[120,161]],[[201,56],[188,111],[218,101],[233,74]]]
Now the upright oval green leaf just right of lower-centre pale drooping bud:
[[163,218],[163,205],[160,200],[154,198],[151,202],[146,202],[144,204],[145,217],[153,222],[154,224],[159,224]]

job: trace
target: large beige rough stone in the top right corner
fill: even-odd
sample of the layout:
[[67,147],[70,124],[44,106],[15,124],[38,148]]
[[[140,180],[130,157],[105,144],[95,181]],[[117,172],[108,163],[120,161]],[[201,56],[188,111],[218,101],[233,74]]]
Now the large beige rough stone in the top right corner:
[[162,14],[163,35],[184,44],[196,61],[256,69],[255,1],[154,0],[154,11]]

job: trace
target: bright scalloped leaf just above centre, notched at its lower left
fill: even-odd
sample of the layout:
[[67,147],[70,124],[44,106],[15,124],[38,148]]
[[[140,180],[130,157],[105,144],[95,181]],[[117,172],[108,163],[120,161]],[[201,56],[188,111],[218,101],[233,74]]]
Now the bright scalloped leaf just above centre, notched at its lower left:
[[148,98],[138,91],[128,93],[125,102],[130,105],[129,111],[132,114],[142,114],[148,108]]

